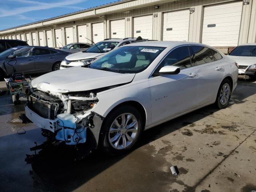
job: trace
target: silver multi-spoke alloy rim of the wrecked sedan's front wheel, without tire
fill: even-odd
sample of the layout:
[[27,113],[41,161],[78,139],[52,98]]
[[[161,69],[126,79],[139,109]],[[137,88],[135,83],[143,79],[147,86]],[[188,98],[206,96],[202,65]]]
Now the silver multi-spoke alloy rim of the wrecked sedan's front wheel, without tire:
[[128,148],[138,134],[138,120],[133,114],[123,113],[111,124],[108,132],[110,145],[115,149]]

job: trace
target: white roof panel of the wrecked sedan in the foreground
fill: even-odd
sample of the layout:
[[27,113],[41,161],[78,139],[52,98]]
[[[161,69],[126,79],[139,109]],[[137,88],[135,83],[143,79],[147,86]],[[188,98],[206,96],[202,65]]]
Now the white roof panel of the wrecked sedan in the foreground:
[[[133,44],[128,44],[126,46],[158,46],[158,47],[170,47],[170,46],[179,46],[179,45],[186,45],[186,44],[195,44],[195,45],[204,45],[201,43],[195,42],[187,42],[187,41],[144,41],[144,42],[134,42]],[[207,46],[207,45],[204,45]]]

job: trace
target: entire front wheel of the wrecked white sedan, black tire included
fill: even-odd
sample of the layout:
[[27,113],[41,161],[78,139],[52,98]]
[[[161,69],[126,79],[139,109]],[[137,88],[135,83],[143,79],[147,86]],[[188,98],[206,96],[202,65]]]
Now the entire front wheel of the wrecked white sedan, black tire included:
[[103,150],[110,154],[120,154],[133,148],[142,132],[142,117],[132,106],[116,108],[102,125]]

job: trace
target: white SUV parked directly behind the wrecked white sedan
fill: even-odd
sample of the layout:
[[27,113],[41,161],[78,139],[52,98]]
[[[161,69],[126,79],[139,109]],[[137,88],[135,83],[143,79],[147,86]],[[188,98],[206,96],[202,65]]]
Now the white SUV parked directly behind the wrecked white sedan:
[[136,38],[124,38],[124,39],[105,39],[100,41],[85,51],[71,54],[61,62],[60,69],[65,69],[73,66],[80,66],[92,62],[96,57],[101,56],[110,50],[118,48],[120,46],[130,44],[134,42]]

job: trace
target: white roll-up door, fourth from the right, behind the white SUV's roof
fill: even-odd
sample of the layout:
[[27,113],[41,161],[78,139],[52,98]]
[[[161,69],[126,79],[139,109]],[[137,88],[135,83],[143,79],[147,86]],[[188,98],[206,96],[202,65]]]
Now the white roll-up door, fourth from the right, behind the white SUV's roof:
[[111,38],[125,38],[124,19],[110,21]]

